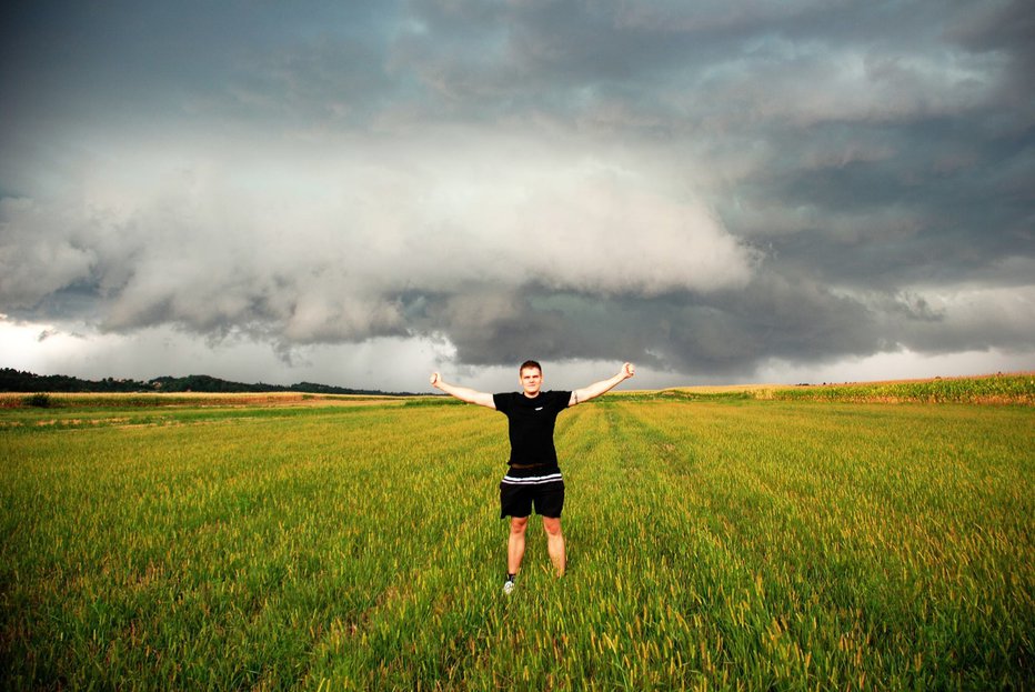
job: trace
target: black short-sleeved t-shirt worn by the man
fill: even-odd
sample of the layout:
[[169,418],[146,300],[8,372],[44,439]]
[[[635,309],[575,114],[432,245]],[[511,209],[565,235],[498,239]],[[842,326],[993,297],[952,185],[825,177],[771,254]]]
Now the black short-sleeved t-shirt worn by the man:
[[557,465],[553,445],[553,425],[567,408],[571,392],[540,392],[529,399],[523,392],[493,394],[492,401],[506,415],[511,439],[511,458],[506,463]]

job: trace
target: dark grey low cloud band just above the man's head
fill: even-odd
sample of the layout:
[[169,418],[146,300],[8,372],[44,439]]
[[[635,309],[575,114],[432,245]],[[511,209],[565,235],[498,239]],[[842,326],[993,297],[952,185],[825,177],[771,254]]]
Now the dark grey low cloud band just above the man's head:
[[490,300],[471,293],[446,304],[436,312],[444,333],[458,357],[479,364],[505,364],[523,353],[547,359],[577,353],[732,375],[765,358],[814,363],[882,345],[876,314],[867,305],[810,282],[782,279],[760,279],[709,297],[602,299],[530,287]]

